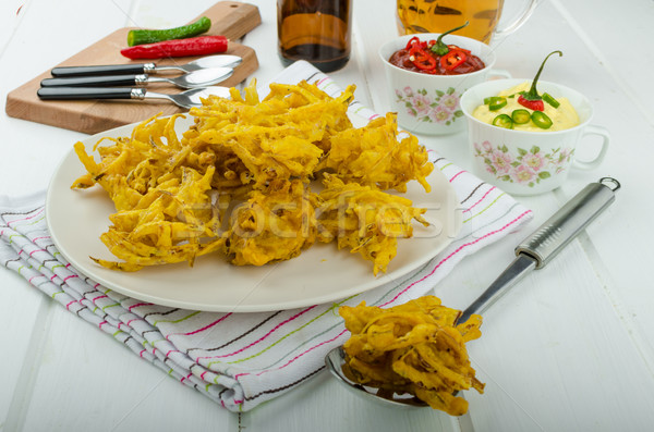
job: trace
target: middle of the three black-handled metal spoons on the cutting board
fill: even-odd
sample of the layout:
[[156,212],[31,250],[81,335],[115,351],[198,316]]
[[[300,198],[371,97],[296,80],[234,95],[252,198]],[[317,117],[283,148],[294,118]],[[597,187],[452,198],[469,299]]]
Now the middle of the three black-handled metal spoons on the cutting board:
[[231,67],[210,67],[187,72],[173,78],[138,75],[98,75],[72,76],[65,78],[43,79],[41,87],[98,87],[98,86],[137,86],[145,87],[150,83],[169,83],[181,88],[208,87],[229,78],[234,73]]

